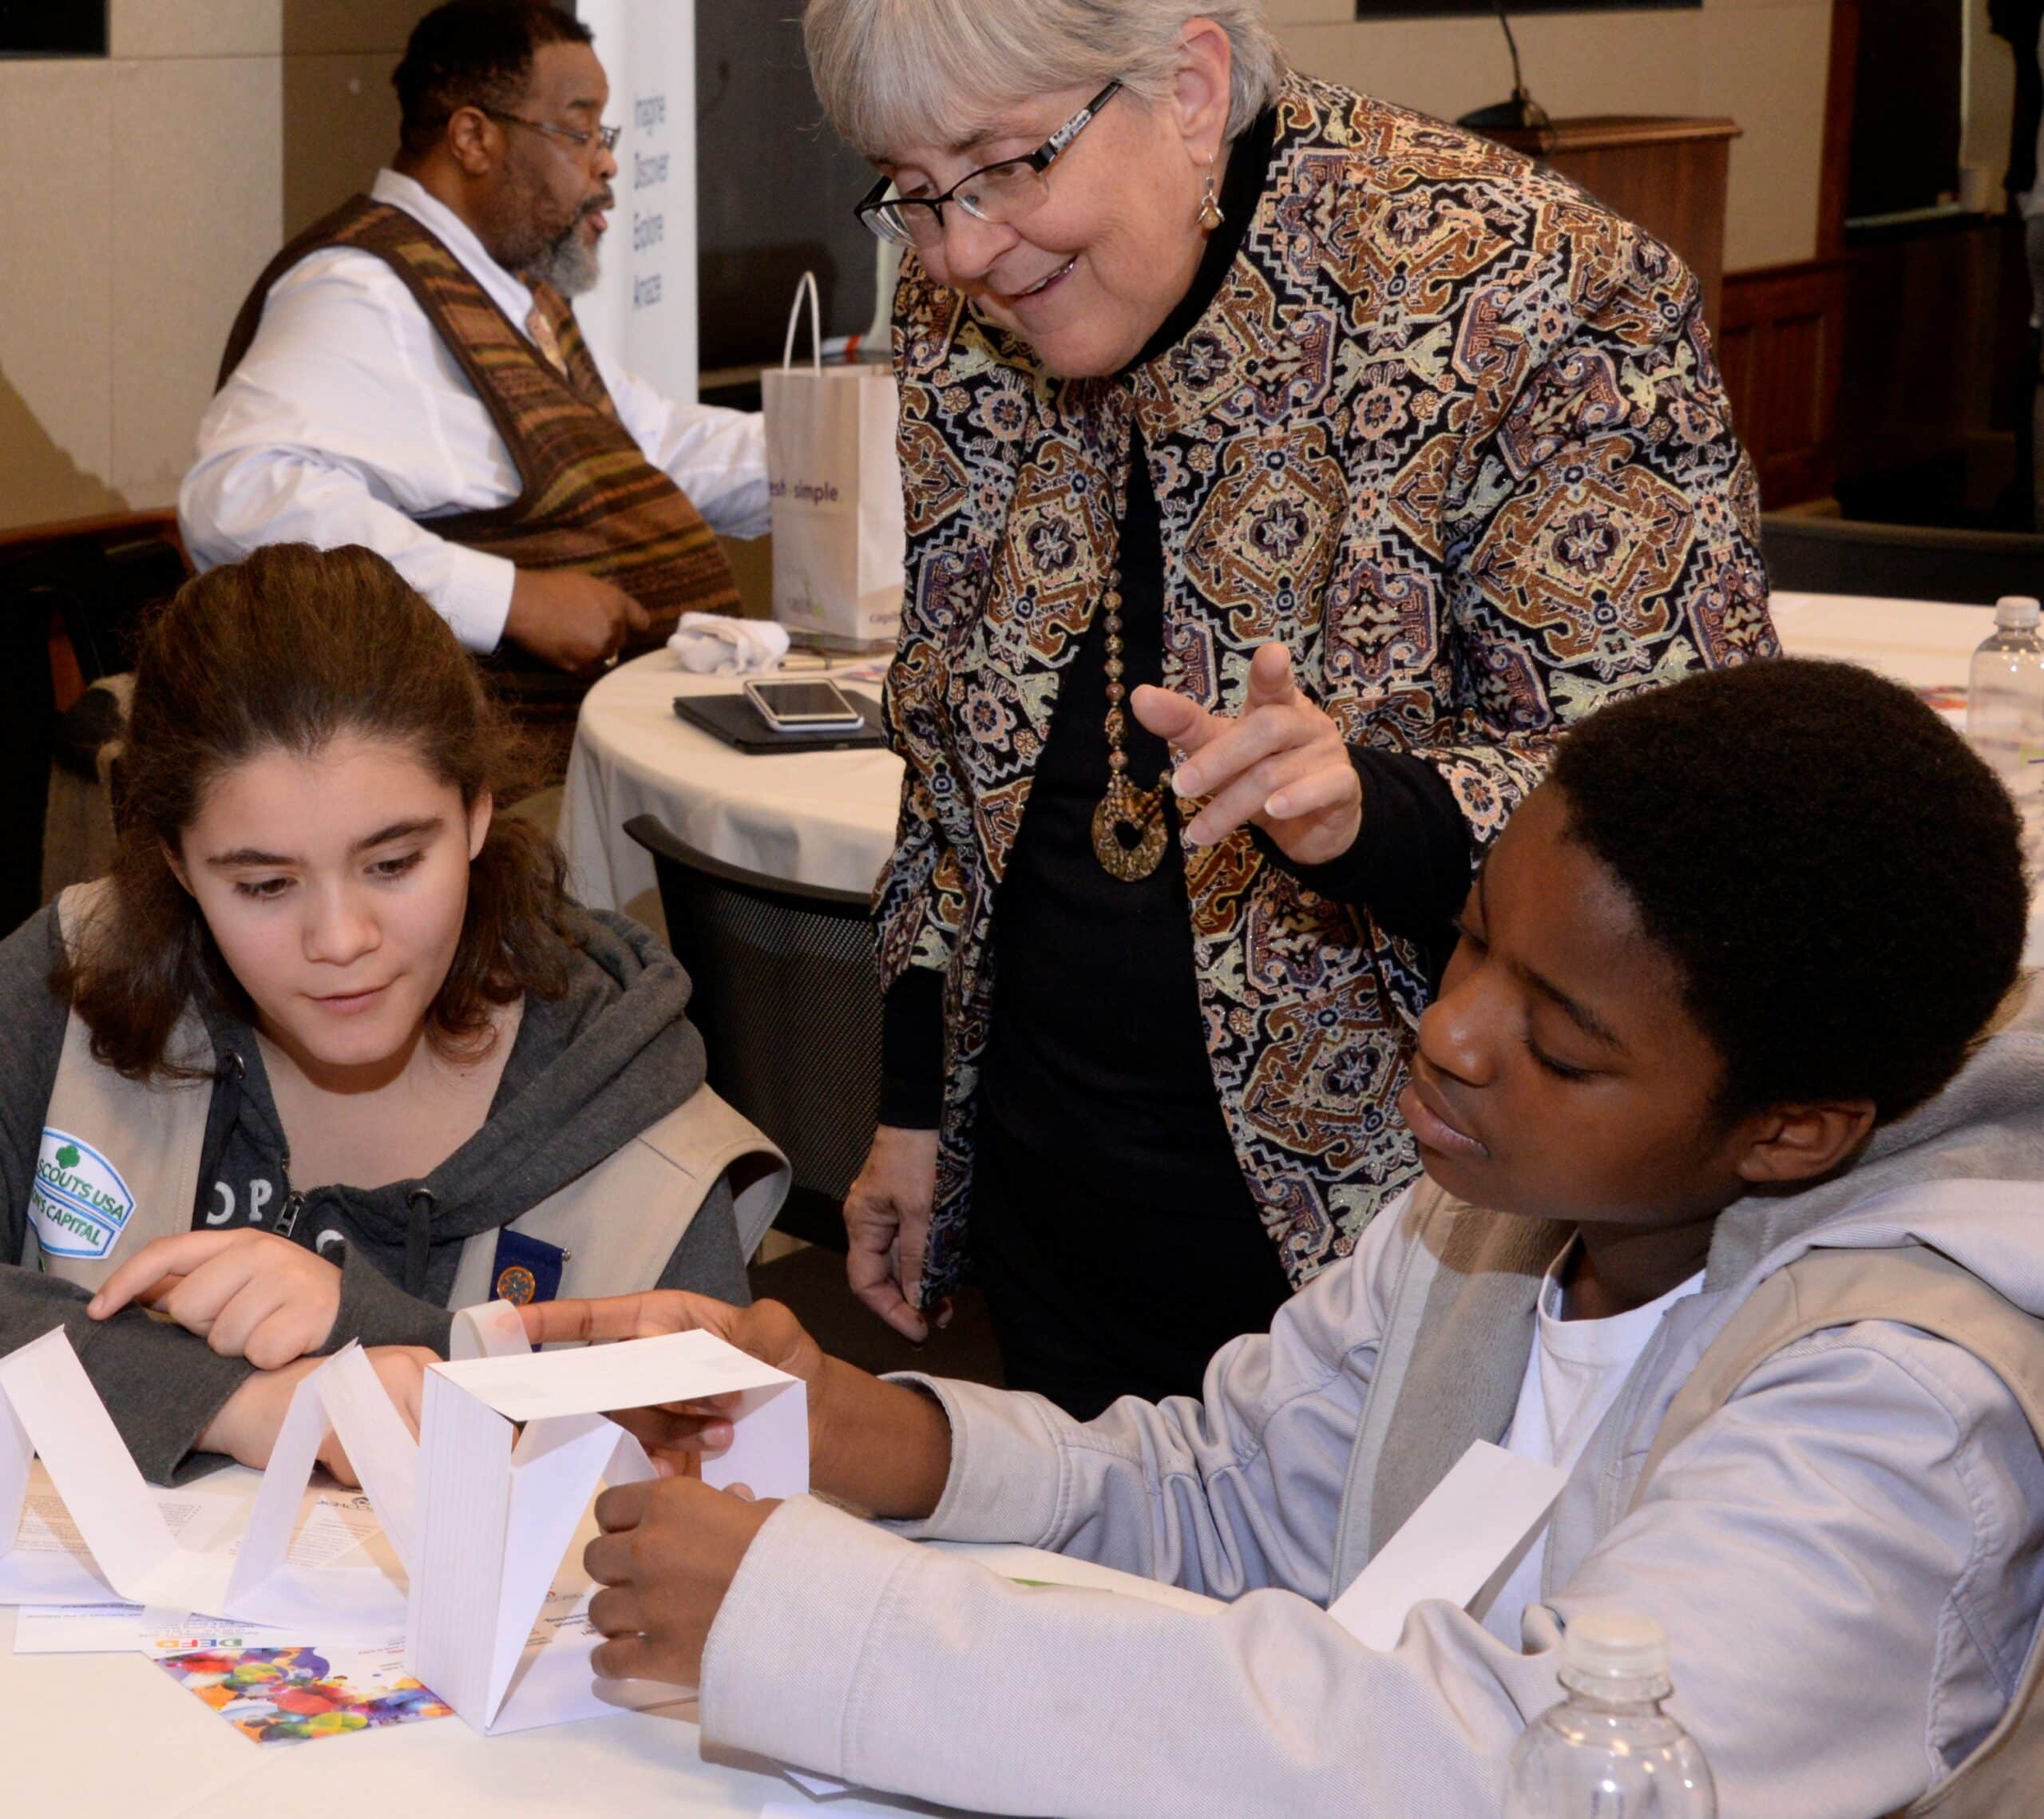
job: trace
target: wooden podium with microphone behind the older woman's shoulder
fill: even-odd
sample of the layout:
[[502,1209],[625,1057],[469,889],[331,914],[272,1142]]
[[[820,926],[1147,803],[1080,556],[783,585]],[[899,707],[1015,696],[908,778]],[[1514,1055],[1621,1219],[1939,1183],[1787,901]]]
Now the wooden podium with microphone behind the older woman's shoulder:
[[1703,284],[1715,329],[1725,290],[1725,172],[1735,121],[1584,114],[1486,137],[1574,178],[1598,202],[1674,247]]

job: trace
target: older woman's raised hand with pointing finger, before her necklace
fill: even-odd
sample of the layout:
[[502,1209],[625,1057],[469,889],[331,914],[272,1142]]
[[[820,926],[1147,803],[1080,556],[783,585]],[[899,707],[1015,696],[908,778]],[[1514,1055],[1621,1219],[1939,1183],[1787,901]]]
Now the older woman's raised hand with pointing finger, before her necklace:
[[1249,660],[1249,695],[1235,719],[1169,689],[1136,689],[1128,705],[1157,738],[1186,752],[1171,787],[1208,797],[1186,828],[1196,846],[1212,846],[1245,822],[1298,865],[1327,865],[1355,844],[1363,785],[1341,728],[1298,691],[1282,644],[1265,644]]

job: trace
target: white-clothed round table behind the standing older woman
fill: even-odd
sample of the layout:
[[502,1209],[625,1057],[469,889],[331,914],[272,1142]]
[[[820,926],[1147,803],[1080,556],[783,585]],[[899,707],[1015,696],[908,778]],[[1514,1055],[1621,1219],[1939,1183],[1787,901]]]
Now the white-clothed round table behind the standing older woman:
[[[1774,623],[1791,656],[1850,658],[1915,689],[1964,687],[1993,609],[1778,593]],[[728,865],[803,885],[873,889],[893,846],[901,760],[885,750],[748,756],[675,717],[677,695],[736,689],[728,677],[691,677],[656,650],[589,691],[560,807],[560,844],[580,901],[599,910],[638,903],[644,914],[652,860],[623,832],[644,813]]]

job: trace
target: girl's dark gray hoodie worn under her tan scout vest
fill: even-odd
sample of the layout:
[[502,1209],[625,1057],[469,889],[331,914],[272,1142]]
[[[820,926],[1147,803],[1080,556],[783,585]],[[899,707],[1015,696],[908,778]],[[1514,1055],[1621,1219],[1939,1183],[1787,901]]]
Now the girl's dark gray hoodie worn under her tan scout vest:
[[[444,1353],[462,1245],[587,1173],[703,1083],[681,963],[623,916],[574,910],[570,934],[566,995],[525,1001],[482,1128],[417,1181],[364,1190],[292,1179],[256,1032],[225,1008],[200,1008],[217,1073],[192,1224],[288,1222],[294,1243],[337,1261],[341,1306],[327,1351],[360,1339]],[[217,1463],[192,1445],[249,1367],[139,1308],[92,1320],[84,1290],[18,1267],[69,1020],[49,989],[59,957],[55,905],[0,942],[0,1353],[61,1324],[143,1474],[168,1482]],[[660,1286],[746,1298],[728,1185],[703,1204]]]

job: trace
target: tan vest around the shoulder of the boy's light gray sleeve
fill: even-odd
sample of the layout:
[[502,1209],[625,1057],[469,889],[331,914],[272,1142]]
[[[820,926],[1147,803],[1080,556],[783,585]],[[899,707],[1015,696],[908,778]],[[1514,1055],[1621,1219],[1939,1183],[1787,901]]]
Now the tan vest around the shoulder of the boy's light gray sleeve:
[[[1717,1335],[1668,1404],[1633,1490],[1633,1506],[1664,1457],[1709,1420],[1774,1353],[1856,1320],[1895,1320],[1970,1351],[2030,1418],[2044,1445],[2044,1322],[1923,1245],[1893,1251],[1811,1251],[1770,1275]],[[2007,1819],[2044,1803],[2044,1625],[2030,1637],[2022,1680],[2001,1723],[1901,1819]]]

